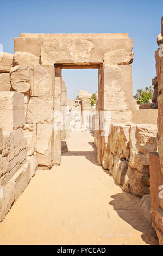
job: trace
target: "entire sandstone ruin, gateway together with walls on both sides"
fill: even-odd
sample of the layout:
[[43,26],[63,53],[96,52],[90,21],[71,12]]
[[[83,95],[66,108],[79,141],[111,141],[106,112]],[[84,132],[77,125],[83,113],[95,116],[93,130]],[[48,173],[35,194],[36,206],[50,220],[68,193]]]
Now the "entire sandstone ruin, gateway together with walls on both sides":
[[[158,37],[159,44],[162,36]],[[137,109],[133,101],[132,49],[133,39],[127,33],[20,34],[15,38],[15,53],[3,53],[0,221],[37,169],[61,163],[61,141],[65,141],[70,126],[83,129],[92,126],[98,163],[124,191],[137,197],[148,195],[148,199],[151,191],[153,227],[163,244],[163,204],[157,190],[163,182],[163,62],[159,48],[155,53],[158,89],[154,78],[152,100],[157,104],[158,93],[159,109]],[[89,68],[98,69],[96,106],[92,108],[91,94],[83,91],[79,92],[77,104],[67,100],[61,77],[62,69]],[[90,111],[92,119],[84,111]]]

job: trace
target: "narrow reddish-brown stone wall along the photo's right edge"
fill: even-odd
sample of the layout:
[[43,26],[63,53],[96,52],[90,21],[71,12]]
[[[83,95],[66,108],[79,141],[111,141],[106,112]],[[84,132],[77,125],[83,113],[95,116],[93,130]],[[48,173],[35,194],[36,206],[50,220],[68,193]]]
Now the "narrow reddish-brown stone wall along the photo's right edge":
[[163,17],[161,34],[158,35],[158,50],[155,51],[156,76],[158,78],[158,153],[150,154],[150,186],[152,225],[156,230],[160,245],[163,245]]

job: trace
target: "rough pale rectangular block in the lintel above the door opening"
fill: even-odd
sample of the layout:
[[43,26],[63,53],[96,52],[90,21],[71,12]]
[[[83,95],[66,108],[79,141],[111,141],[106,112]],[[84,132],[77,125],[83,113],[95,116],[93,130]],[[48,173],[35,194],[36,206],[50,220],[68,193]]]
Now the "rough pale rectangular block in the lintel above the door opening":
[[86,39],[45,39],[41,46],[41,63],[90,63],[93,42]]

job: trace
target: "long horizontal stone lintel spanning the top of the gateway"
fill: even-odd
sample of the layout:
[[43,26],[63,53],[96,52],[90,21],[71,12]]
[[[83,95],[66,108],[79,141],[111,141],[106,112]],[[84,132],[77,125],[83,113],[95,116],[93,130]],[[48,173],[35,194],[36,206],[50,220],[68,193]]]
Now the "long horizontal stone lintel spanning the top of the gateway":
[[[60,63],[65,60],[69,63],[78,60],[79,63],[102,63],[105,52],[122,48],[132,51],[133,39],[128,38],[127,33],[21,34],[20,38],[15,38],[15,52],[29,52],[39,57],[41,49],[41,55],[47,61],[42,64],[54,64],[54,57],[58,57]],[[86,59],[88,53],[90,58]]]

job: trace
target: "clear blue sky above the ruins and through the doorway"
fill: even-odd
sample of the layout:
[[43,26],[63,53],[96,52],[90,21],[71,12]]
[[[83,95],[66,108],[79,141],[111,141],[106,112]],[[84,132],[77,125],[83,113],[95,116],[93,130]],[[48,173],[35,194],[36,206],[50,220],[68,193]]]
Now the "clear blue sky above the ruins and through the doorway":
[[[19,33],[123,33],[134,39],[133,93],[152,84],[154,51],[161,30],[162,0],[1,1],[0,44],[14,53]],[[63,72],[68,97],[97,90],[96,70]]]

